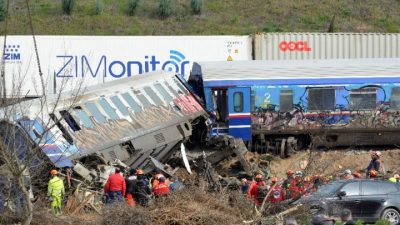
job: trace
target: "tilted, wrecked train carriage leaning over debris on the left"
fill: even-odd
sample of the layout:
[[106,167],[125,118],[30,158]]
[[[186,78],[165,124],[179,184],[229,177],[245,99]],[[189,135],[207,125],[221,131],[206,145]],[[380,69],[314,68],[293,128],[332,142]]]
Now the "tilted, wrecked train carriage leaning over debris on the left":
[[53,96],[42,105],[43,99],[34,99],[4,108],[3,120],[23,130],[56,167],[73,168],[88,181],[108,176],[104,168],[111,163],[152,170],[150,156],[165,162],[208,115],[169,72]]

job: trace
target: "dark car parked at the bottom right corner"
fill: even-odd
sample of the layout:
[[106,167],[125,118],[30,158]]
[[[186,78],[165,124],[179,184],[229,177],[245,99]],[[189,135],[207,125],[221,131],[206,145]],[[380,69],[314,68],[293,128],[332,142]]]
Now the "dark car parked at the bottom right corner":
[[386,180],[335,181],[296,203],[323,209],[331,216],[339,216],[340,211],[347,208],[355,220],[400,222],[400,184]]

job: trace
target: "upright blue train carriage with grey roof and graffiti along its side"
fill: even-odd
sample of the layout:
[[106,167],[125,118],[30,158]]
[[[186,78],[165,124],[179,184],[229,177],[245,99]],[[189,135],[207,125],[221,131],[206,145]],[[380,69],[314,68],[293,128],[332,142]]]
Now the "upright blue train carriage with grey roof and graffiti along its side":
[[400,59],[194,63],[211,136],[282,157],[307,147],[398,145]]

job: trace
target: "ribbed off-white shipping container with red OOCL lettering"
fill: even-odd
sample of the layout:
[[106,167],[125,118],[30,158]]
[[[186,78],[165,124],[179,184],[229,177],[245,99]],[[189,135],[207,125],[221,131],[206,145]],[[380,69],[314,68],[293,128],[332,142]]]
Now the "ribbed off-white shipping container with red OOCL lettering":
[[254,35],[256,60],[399,58],[400,34],[261,33]]

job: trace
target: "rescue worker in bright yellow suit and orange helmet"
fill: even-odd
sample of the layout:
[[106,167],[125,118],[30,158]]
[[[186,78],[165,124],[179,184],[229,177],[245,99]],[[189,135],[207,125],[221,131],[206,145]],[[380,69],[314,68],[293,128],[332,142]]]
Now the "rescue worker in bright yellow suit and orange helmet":
[[65,195],[64,181],[57,176],[57,170],[51,170],[50,174],[52,178],[50,179],[47,188],[47,196],[51,201],[53,214],[58,215],[61,213],[61,202]]

